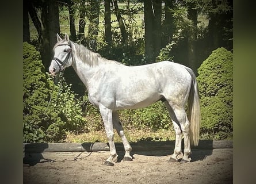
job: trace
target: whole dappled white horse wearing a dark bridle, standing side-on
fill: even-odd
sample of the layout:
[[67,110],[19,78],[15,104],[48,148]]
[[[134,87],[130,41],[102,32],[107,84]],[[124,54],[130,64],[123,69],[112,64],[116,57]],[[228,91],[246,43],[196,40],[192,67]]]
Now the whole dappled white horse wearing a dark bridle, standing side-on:
[[[143,108],[160,99],[165,102],[175,128],[175,148],[169,162],[190,162],[190,144],[198,145],[200,102],[194,72],[181,64],[159,62],[143,66],[125,66],[101,57],[81,44],[73,43],[65,34],[57,34],[51,75],[72,66],[88,90],[89,101],[100,109],[109,140],[110,156],[105,164],[117,159],[113,128],[124,144],[124,161],[132,160],[131,145],[124,135],[117,110]],[[188,116],[185,105],[188,101]],[[184,135],[184,154],[181,141]]]

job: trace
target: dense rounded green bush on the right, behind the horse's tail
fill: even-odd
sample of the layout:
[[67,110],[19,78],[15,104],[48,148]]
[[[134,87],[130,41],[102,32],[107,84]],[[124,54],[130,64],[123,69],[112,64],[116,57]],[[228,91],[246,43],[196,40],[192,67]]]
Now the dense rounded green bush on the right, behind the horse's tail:
[[233,131],[233,55],[221,47],[198,68],[201,133],[225,139]]

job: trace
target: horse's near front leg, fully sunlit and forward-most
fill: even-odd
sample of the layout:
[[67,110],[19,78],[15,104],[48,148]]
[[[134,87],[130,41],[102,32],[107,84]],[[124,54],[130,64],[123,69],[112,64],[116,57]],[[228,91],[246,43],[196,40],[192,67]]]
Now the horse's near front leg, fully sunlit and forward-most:
[[101,116],[104,122],[106,136],[109,140],[110,156],[105,161],[106,166],[114,166],[114,162],[117,160],[116,147],[114,146],[114,131],[113,131],[113,116],[112,110],[100,106]]

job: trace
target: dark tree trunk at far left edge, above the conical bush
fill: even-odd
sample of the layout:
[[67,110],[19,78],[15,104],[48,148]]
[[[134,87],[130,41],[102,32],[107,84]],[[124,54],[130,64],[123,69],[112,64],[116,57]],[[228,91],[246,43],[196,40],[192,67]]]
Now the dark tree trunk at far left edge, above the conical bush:
[[23,1],[23,42],[30,43],[28,1]]

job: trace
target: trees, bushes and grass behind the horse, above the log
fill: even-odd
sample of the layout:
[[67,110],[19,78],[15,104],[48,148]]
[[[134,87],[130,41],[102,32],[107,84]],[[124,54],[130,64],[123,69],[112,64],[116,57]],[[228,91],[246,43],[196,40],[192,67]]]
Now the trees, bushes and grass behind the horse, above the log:
[[[128,66],[189,66],[200,87],[201,139],[232,137],[232,16],[232,1],[24,1],[24,141],[105,141],[100,114],[71,67],[51,93],[56,33]],[[120,119],[130,141],[174,138],[161,102],[124,110]]]

